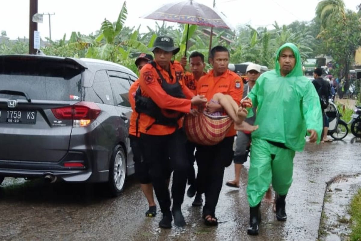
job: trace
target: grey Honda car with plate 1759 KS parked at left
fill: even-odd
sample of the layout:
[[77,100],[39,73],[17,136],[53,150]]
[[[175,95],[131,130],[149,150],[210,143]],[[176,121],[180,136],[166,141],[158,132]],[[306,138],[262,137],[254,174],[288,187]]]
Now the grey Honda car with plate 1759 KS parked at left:
[[104,182],[118,195],[134,173],[127,136],[136,79],[102,60],[0,56],[0,181]]

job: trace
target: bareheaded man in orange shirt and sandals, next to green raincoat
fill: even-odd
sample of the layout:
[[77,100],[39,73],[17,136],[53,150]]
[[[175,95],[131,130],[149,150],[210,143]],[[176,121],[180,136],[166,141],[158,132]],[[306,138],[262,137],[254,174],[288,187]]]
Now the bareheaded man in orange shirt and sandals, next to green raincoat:
[[[205,95],[208,100],[206,112],[223,111],[220,104],[210,101],[216,93],[232,96],[239,105],[243,94],[243,81],[236,73],[228,70],[229,51],[227,48],[222,46],[212,48],[209,61],[213,66],[213,70],[201,77],[197,84],[197,94]],[[236,130],[232,127],[225,139],[217,145],[197,145],[196,147],[197,182],[200,182],[202,192],[205,193],[203,218],[206,225],[218,224],[215,210],[222,188],[224,169],[232,162],[235,135]]]

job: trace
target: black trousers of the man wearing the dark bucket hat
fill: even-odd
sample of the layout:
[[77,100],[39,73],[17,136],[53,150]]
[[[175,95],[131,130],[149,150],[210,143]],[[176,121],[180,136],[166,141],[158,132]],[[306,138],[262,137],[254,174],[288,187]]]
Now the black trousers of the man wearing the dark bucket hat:
[[167,166],[163,158],[168,155],[170,168],[173,170],[172,197],[173,208],[179,209],[183,203],[184,192],[187,184],[187,171],[189,162],[186,152],[186,135],[178,129],[170,135],[140,134],[142,155],[149,164],[149,174],[156,197],[165,215],[170,214],[170,196],[166,182]]

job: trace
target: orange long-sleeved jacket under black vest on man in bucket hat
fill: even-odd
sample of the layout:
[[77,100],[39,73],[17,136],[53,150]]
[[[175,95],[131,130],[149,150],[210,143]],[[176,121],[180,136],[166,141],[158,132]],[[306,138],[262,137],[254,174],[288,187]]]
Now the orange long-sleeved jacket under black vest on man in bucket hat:
[[[144,65],[142,70],[140,70],[139,85],[142,90],[142,96],[150,97],[161,109],[170,109],[173,111],[189,113],[191,109],[190,99],[194,96],[194,94],[184,84],[184,70],[182,65],[177,61],[174,61],[173,64],[170,63],[169,68],[170,73],[173,76],[173,80],[170,79],[168,71],[162,69],[158,64],[156,64],[156,68],[160,71],[167,83],[172,84],[175,83],[175,81],[179,81],[186,99],[175,98],[168,95],[162,89],[162,86],[160,85],[161,79],[158,76],[156,69],[151,64]],[[168,135],[175,132],[176,129],[175,126],[154,124],[152,128],[147,131],[146,129],[148,126],[151,126],[155,119],[145,115],[144,113],[140,113],[139,121],[139,131],[149,135]],[[179,128],[182,127],[182,121],[182,118],[178,121]]]

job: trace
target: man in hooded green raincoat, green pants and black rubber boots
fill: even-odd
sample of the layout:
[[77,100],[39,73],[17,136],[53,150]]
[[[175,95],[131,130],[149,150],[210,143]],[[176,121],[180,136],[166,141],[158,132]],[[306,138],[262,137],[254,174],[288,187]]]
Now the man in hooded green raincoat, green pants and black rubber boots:
[[277,193],[276,218],[286,221],[285,198],[292,184],[295,152],[303,151],[306,134],[310,142],[319,143],[322,132],[319,97],[303,76],[299,49],[286,43],[276,56],[275,69],[262,74],[248,94],[257,107],[255,125],[259,126],[252,133],[247,186],[251,235],[258,234],[261,200],[271,182]]

